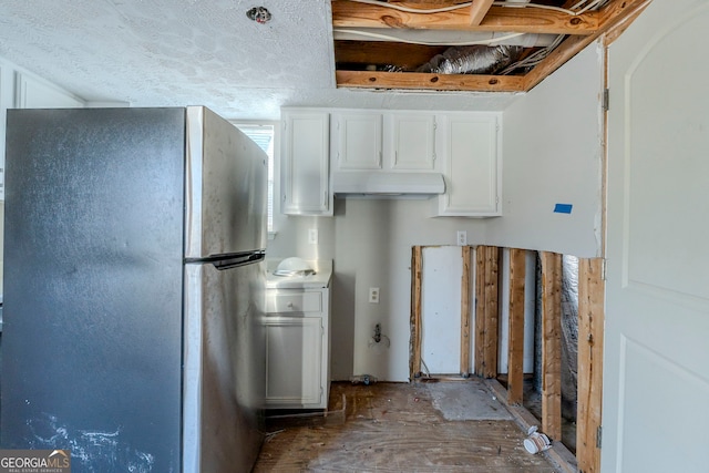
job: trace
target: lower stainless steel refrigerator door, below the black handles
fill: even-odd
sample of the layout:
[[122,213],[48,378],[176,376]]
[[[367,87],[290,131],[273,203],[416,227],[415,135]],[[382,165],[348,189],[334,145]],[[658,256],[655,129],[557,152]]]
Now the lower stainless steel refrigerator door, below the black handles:
[[248,472],[263,441],[265,265],[185,265],[184,472]]

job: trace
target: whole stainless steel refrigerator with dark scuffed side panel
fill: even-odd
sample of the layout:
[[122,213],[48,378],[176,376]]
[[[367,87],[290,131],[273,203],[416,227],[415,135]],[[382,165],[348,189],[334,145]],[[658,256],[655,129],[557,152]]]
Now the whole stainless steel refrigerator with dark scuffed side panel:
[[205,107],[8,111],[2,449],[251,469],[266,167]]

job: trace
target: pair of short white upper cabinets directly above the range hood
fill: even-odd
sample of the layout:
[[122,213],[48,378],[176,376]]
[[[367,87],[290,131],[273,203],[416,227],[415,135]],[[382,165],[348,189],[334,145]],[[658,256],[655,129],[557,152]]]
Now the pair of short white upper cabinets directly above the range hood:
[[336,171],[433,171],[435,115],[425,112],[339,111],[332,114]]

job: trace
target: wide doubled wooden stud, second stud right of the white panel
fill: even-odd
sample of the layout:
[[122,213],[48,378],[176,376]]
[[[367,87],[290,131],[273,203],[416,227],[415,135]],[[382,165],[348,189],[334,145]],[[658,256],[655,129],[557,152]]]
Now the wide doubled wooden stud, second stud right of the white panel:
[[497,376],[500,248],[475,248],[475,373]]

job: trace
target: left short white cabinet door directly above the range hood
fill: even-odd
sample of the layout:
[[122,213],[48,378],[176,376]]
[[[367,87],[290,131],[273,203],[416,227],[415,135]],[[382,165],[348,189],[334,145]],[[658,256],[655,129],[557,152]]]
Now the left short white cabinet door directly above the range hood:
[[338,169],[380,169],[382,161],[382,115],[348,112],[333,115],[337,130]]

